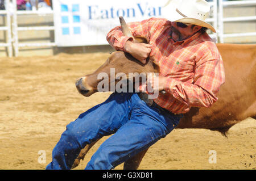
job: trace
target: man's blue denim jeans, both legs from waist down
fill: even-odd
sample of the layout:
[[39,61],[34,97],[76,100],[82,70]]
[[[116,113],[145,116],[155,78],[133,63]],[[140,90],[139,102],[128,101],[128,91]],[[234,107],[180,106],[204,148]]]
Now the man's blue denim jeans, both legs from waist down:
[[138,94],[113,93],[104,103],[67,125],[46,169],[71,169],[85,145],[115,133],[98,148],[85,168],[113,169],[165,137],[180,118],[180,115],[147,106]]

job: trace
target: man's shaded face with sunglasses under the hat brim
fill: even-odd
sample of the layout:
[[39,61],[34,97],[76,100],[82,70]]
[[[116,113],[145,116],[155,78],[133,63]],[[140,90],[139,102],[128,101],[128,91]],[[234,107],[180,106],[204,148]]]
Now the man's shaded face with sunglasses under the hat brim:
[[174,41],[183,41],[187,39],[188,37],[191,37],[193,34],[195,34],[197,31],[200,30],[200,26],[192,26],[189,25],[187,27],[178,27],[176,22],[171,22],[171,30],[172,30],[172,39]]

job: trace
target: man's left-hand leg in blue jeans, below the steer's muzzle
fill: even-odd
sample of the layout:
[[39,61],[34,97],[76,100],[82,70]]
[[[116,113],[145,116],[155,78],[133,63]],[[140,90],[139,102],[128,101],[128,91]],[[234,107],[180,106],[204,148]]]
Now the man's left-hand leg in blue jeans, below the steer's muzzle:
[[71,169],[86,144],[117,131],[130,118],[133,94],[113,93],[104,102],[82,113],[67,125],[52,151],[52,162],[46,169]]

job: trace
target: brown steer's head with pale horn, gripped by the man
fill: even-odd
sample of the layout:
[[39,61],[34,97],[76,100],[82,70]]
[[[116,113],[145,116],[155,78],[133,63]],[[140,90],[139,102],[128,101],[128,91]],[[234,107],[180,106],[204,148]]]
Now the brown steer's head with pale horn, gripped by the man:
[[[125,20],[123,20],[122,17],[119,18],[121,23],[121,28],[123,35],[133,37],[131,35],[131,32],[129,28],[127,27]],[[148,43],[147,39],[141,36],[133,37],[134,41],[137,43]],[[94,94],[95,92],[98,92],[98,83],[102,81],[104,77],[99,77],[98,75],[104,74],[108,75],[108,85],[109,85],[109,91],[112,91],[110,89],[110,85],[112,83],[117,83],[118,81],[115,80],[115,82],[112,81],[110,70],[113,70],[114,68],[114,77],[117,76],[118,73],[124,73],[129,79],[129,73],[158,73],[159,72],[159,66],[152,60],[151,58],[147,58],[146,64],[142,64],[140,61],[136,60],[134,57],[132,57],[129,53],[125,53],[122,51],[115,51],[113,52],[110,57],[106,60],[106,62],[100,66],[96,71],[94,71],[92,74],[85,75],[84,77],[81,77],[77,79],[76,81],[76,87],[77,90],[80,92],[80,94],[84,96],[90,96]]]

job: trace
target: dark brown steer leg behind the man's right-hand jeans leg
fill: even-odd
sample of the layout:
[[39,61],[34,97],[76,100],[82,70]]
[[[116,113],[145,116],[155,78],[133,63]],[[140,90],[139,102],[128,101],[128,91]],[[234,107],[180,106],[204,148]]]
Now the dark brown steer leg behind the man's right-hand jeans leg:
[[123,170],[137,170],[147,150],[148,149],[143,150],[137,155],[134,155],[133,157],[129,158],[123,165]]

